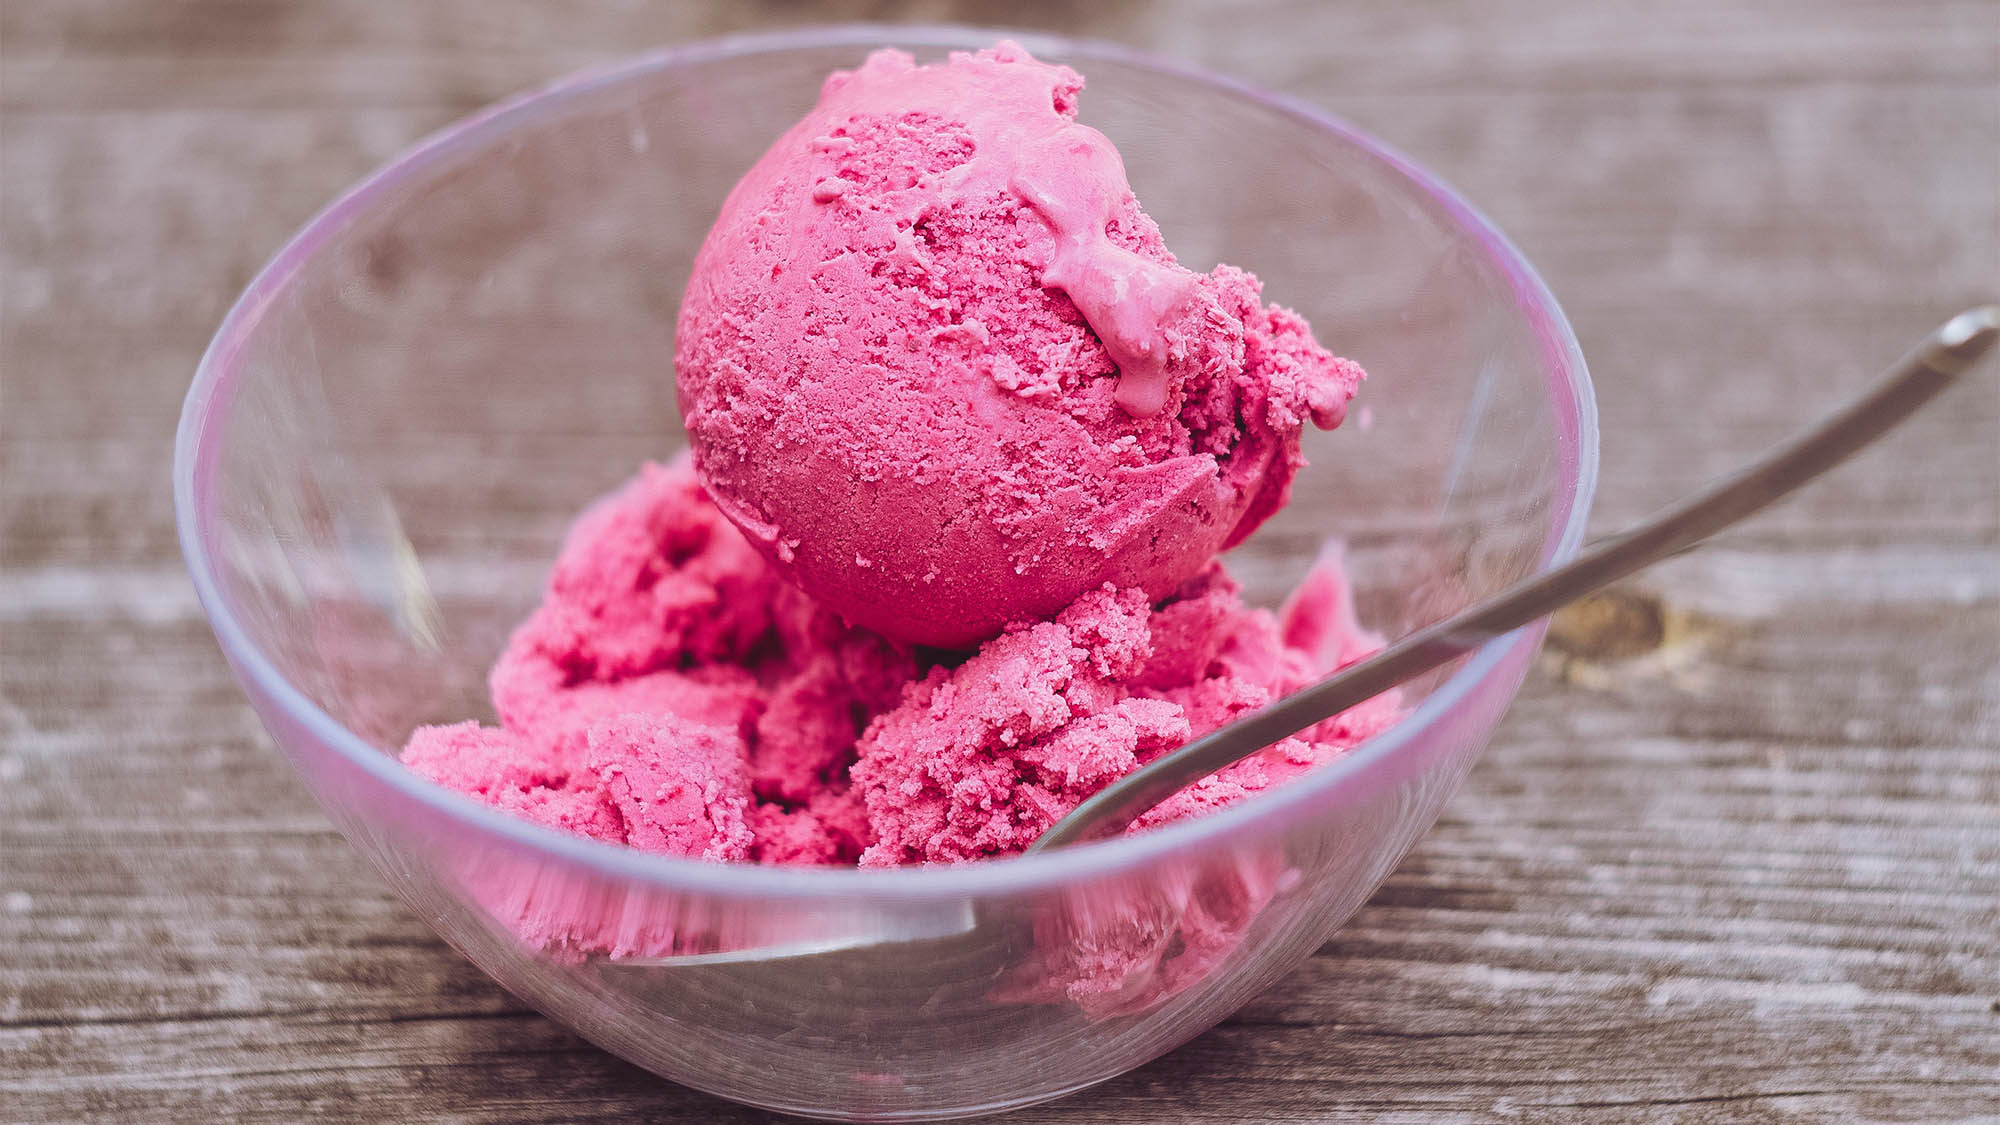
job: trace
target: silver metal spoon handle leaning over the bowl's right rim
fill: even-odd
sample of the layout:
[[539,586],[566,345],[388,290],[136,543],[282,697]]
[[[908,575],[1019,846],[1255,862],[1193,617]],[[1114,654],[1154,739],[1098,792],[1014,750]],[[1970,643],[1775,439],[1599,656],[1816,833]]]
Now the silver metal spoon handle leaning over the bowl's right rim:
[[1154,759],[1078,805],[1042,833],[1028,851],[1048,851],[1116,835],[1160,801],[1218,769],[1462,657],[1494,637],[1504,637],[1548,617],[1592,591],[1686,550],[1762,510],[1896,428],[1978,362],[1996,336],[2000,336],[2000,306],[1988,304],[1960,312],[1916,344],[1858,398],[1734,476],[1710,484],[1622,534],[1586,546],[1582,554],[1562,567],[1528,577],[1474,607],[1402,637],[1308,689]]

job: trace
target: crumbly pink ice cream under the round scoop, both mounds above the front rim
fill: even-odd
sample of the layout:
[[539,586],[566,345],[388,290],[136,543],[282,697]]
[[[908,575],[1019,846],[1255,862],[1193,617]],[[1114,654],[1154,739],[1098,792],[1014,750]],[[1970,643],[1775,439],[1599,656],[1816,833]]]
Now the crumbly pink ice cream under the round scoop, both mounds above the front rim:
[[[648,464],[584,512],[492,671],[500,727],[424,727],[404,761],[520,817],[714,861],[910,865],[1022,851],[1110,781],[1376,639],[1334,558],[1272,615],[1210,565],[1154,605],[1102,587],[930,663],[790,587],[706,498]],[[1372,701],[1238,763],[1134,831],[1328,761]]]

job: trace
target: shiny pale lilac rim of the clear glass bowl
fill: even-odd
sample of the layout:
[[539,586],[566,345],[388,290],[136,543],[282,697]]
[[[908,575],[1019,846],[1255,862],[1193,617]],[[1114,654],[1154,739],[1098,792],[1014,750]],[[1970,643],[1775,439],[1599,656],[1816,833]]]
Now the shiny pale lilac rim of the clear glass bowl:
[[990,44],[996,38],[1016,38],[1036,54],[1068,58],[1104,58],[1122,66],[1152,70],[1168,78],[1198,82],[1228,94],[1252,100],[1270,110],[1298,120],[1312,130],[1324,130],[1358,146],[1376,160],[1388,164],[1410,184],[1428,194],[1442,210],[1472,232],[1484,246],[1488,258],[1506,274],[1524,316],[1534,324],[1542,340],[1542,356],[1548,366],[1550,394],[1556,400],[1562,426],[1560,440],[1562,468],[1568,474],[1568,490],[1554,498],[1556,520],[1548,542],[1542,546],[1542,567],[1562,562],[1576,554],[1584,538],[1584,520],[1590,512],[1590,498],[1596,490],[1598,474],[1598,422],[1596,398],[1584,356],[1570,332],[1570,324],[1548,292],[1548,286],[1534,272],[1528,260],[1500,230],[1486,220],[1472,204],[1458,196],[1442,180],[1420,168],[1414,160],[1394,148],[1374,140],[1348,122],[1310,106],[1298,98],[1260,90],[1234,78],[1210,74],[1196,66],[1160,58],[1128,46],[1036,34],[1012,28],[972,28],[952,24],[840,24],[818,28],[792,28],[780,32],[738,34],[710,38],[692,44],[658,48],[646,54],[624,58],[606,66],[588,68],[566,78],[558,78],[536,90],[528,90],[496,102],[484,110],[462,118],[424,140],[412,144],[402,154],[370,172],[364,180],[348,188],[306,226],[298,230],[278,250],[276,256],[256,274],[244,294],[224,316],[222,326],[210,340],[194,384],[180,414],[180,430],[174,440],[174,514],[180,532],[182,554],[194,577],[196,595],[208,613],[210,625],[222,649],[242,675],[282,707],[310,737],[318,739],[350,765],[370,775],[374,781],[394,789],[402,797],[430,807],[442,817],[464,823],[472,831],[490,833],[524,849],[548,853],[552,859],[590,867],[600,875],[652,883],[674,891],[702,891],[722,897],[770,897],[790,895],[802,899],[964,899],[974,895],[1000,895],[1018,891],[1050,889],[1080,879],[1108,877],[1134,867],[1144,867],[1168,855],[1192,851],[1208,841],[1232,837],[1238,831],[1262,823],[1290,825],[1310,817],[1312,805],[1336,799],[1340,791],[1356,787],[1360,779],[1374,775],[1402,751],[1412,739],[1424,735],[1452,713],[1486,677],[1490,677],[1506,657],[1528,645],[1526,631],[1494,639],[1480,647],[1470,661],[1424,699],[1402,723],[1382,735],[1362,743],[1342,759],[1336,759],[1312,775],[1290,785],[1264,793],[1252,801],[1198,817],[1166,825],[1136,837],[1118,837],[1092,845],[1052,851],[1046,855],[994,859],[964,863],[954,867],[898,867],[898,869],[846,869],[846,867],[766,867],[748,863],[708,863],[698,859],[652,855],[626,847],[600,843],[558,829],[548,829],[518,817],[510,817],[490,805],[464,797],[442,785],[426,781],[388,753],[382,753],[340,721],[322,711],[302,691],[298,691],[270,659],[250,641],[242,623],[230,613],[220,597],[216,575],[212,573],[210,550],[204,540],[204,526],[212,524],[212,504],[202,498],[212,492],[208,484],[214,468],[214,448],[204,442],[208,422],[226,404],[228,388],[236,372],[236,358],[244,340],[256,328],[270,302],[286,288],[290,278],[326,244],[346,220],[366,208],[386,186],[408,178],[436,162],[462,152],[468,146],[492,140],[510,128],[534,120],[552,106],[594,90],[614,86],[644,74],[672,70],[698,62],[770,54],[796,48],[824,46],[882,46],[910,44],[928,48],[968,48]]

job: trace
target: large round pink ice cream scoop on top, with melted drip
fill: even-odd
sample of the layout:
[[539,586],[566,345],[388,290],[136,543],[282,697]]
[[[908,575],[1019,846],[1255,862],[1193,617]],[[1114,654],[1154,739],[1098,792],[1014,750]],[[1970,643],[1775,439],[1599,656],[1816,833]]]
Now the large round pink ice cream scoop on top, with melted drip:
[[696,256],[674,358],[702,484],[896,641],[1170,595],[1284,504],[1304,422],[1362,378],[1248,272],[1174,260],[1082,84],[1010,42],[880,50]]

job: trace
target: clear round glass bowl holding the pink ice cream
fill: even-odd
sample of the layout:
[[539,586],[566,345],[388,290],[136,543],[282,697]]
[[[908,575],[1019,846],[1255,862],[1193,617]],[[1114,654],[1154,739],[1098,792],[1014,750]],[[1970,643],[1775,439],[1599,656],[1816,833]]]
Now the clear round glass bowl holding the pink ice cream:
[[[408,773],[566,522],[682,444],[672,334],[722,196],[868,48],[826,28],[668,48],[472,116],[368,176],[250,284],[188,392],[182,546],[222,653],[354,847],[446,941],[658,1075],[836,1119],[954,1117],[1136,1067],[1268,989],[1432,825],[1540,629],[1406,689],[1382,737],[1220,815],[964,867],[644,855]],[[1346,540],[1364,621],[1434,621],[1570,556],[1596,476],[1554,298],[1456,194],[1326,114],[1124,48],[1020,36],[1088,78],[1192,268],[1254,270],[1370,380],[1292,506],[1232,552],[1276,603]]]

